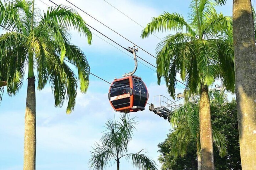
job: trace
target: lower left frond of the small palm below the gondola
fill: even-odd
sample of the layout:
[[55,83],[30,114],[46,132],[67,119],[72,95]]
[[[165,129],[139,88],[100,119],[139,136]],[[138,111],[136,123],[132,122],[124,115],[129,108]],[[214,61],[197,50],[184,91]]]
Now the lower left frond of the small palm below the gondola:
[[90,169],[103,170],[105,166],[110,166],[113,164],[112,159],[115,159],[116,155],[111,151],[107,150],[105,147],[96,144],[93,151],[91,151],[91,159],[88,164]]

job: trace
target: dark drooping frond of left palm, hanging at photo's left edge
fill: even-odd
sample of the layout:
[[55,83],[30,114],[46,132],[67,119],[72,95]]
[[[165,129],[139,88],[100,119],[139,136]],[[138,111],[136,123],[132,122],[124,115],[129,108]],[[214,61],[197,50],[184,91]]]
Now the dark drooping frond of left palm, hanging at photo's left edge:
[[0,36],[0,72],[9,95],[16,95],[22,86],[27,62],[26,40],[26,36],[16,32]]

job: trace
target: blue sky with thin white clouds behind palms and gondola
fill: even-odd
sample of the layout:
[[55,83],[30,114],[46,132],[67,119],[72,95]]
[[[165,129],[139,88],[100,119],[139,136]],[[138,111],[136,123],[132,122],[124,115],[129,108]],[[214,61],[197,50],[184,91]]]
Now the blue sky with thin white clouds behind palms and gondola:
[[[48,0],[44,3],[55,6]],[[57,4],[69,5],[65,0],[53,0]],[[3,1],[2,1],[3,2]],[[149,38],[141,39],[142,27],[108,5],[104,0],[70,0],[84,11],[91,14],[110,28],[119,32],[130,41],[155,55],[155,47],[164,36],[163,32]],[[128,15],[142,26],[146,26],[152,17],[157,17],[164,11],[182,14],[187,19],[190,0],[107,0],[120,11]],[[35,0],[35,7],[41,12],[47,10],[39,0]],[[75,8],[72,6],[72,8]],[[76,8],[75,8],[76,9]],[[226,6],[216,8],[224,15],[232,16],[232,4],[228,1]],[[124,47],[132,46],[114,32],[102,26],[97,21],[76,9],[83,19],[95,29],[109,36]],[[133,70],[134,60],[132,54],[119,48],[99,33],[91,30],[93,41],[88,45],[85,37],[80,37],[71,31],[71,42],[78,45],[85,53],[91,67],[91,73],[112,82],[114,78],[121,78],[124,73]],[[5,31],[0,29],[0,34]],[[97,37],[99,36],[99,37]],[[103,39],[103,40],[102,40]],[[107,42],[105,42],[105,41]],[[113,47],[112,45],[115,47]],[[138,56],[155,65],[155,58],[139,49]],[[148,103],[154,104],[154,96],[164,95],[171,99],[167,93],[165,83],[157,85],[155,68],[138,59],[138,69],[135,75],[142,77],[149,91]],[[150,69],[149,69],[149,68]],[[182,92],[184,85],[179,84],[177,93]],[[90,85],[86,94],[78,91],[76,106],[71,114],[66,114],[66,104],[62,108],[54,107],[53,92],[49,85],[42,91],[36,91],[36,119],[37,119],[37,155],[36,168],[38,170],[87,170],[90,151],[102,136],[107,119],[118,118],[120,113],[114,112],[110,106],[107,93],[109,84],[90,76]],[[6,90],[6,89],[5,89]],[[0,103],[0,169],[19,170],[23,168],[24,150],[24,113],[26,103],[27,82],[16,96],[3,95]],[[156,97],[157,98],[157,97]],[[155,100],[156,101],[156,100]],[[157,105],[157,102],[155,103]],[[134,137],[129,145],[129,153],[136,153],[145,148],[146,155],[152,158],[160,169],[158,162],[158,147],[163,142],[171,128],[167,120],[149,111],[148,105],[144,111],[130,113],[136,116],[139,122],[134,131]],[[135,169],[125,159],[120,161],[120,170]],[[116,166],[107,167],[112,170]]]

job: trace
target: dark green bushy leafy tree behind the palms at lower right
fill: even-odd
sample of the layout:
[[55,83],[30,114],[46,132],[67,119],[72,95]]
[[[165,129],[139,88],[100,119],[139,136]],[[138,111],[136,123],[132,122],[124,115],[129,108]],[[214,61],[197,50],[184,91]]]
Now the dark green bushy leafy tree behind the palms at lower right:
[[[211,105],[212,125],[220,131],[224,131],[227,137],[227,151],[224,157],[218,155],[219,149],[214,146],[214,160],[216,170],[239,170],[241,168],[240,152],[239,152],[239,137],[237,124],[236,101],[218,103],[213,101]],[[177,127],[183,125],[183,122],[178,122]],[[187,147],[185,154],[177,154],[173,152],[172,135],[176,128],[167,135],[164,142],[158,144],[161,155],[158,160],[162,163],[162,170],[184,170],[197,169],[197,142],[191,134],[186,135]]]

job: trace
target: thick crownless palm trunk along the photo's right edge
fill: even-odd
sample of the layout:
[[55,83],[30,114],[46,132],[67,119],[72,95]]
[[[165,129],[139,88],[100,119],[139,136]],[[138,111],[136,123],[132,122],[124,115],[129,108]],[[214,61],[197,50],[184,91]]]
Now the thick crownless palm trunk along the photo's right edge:
[[242,169],[255,169],[256,48],[251,0],[233,0],[233,38]]

